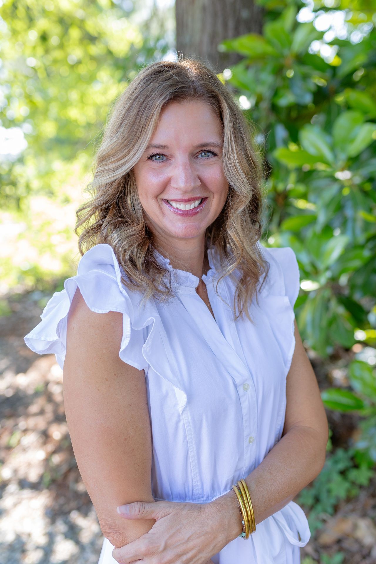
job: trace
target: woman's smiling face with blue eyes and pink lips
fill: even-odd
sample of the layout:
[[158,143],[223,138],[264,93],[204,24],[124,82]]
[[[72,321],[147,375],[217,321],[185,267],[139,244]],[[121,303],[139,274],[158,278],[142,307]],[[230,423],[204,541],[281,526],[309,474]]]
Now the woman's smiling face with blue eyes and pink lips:
[[229,189],[220,120],[204,102],[171,102],[133,170],[154,237],[171,244],[178,239],[201,243]]

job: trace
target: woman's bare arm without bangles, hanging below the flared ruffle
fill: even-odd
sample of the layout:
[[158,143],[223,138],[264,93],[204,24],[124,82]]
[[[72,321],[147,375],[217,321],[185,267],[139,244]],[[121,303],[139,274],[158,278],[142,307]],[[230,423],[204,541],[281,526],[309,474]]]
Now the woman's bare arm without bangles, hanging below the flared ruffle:
[[65,415],[101,531],[116,548],[155,522],[125,521],[116,511],[132,501],[154,501],[145,375],[119,358],[121,339],[122,314],[92,312],[77,289],[68,315]]

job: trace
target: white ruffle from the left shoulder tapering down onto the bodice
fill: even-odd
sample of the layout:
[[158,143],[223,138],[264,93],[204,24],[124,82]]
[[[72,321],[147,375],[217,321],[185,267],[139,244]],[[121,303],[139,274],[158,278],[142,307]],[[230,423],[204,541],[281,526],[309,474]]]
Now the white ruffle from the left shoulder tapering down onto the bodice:
[[[112,246],[108,244],[101,243],[89,249],[78,263],[77,275],[66,279],[64,289],[52,295],[41,314],[41,322],[24,337],[29,349],[38,354],[55,354],[57,363],[63,369],[68,312],[77,287],[91,311],[122,313],[121,360],[138,370],[144,370],[145,376],[150,365],[159,376],[183,393],[184,398],[181,399],[184,401],[180,402],[183,407],[185,392],[175,373],[166,371],[161,359],[162,350],[168,354],[169,344],[154,301],[150,299],[145,307],[139,307],[141,294],[123,286],[120,265]],[[144,328],[148,328],[145,341]]]

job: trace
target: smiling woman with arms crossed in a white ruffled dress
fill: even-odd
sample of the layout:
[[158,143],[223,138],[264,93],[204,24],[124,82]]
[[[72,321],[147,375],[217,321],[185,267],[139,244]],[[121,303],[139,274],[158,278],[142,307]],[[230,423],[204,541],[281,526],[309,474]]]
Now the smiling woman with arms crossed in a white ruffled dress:
[[309,540],[292,500],[324,465],[328,422],[297,259],[259,242],[250,139],[201,62],[142,69],[77,212],[89,250],[25,337],[63,368],[100,564],[295,564]]

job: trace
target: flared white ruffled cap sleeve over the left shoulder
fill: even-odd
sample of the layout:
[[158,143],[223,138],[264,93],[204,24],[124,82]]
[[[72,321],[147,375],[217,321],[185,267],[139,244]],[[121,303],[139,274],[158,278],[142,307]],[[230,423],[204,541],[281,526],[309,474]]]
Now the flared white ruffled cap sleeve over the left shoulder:
[[119,356],[147,373],[148,363],[143,355],[142,328],[134,328],[134,305],[130,293],[121,282],[121,271],[116,255],[108,244],[98,244],[80,259],[77,275],[64,281],[64,289],[55,292],[41,314],[42,321],[25,337],[26,345],[38,354],[55,354],[63,369],[67,345],[67,318],[76,289],[91,311],[122,314],[123,334]]

